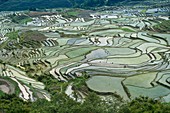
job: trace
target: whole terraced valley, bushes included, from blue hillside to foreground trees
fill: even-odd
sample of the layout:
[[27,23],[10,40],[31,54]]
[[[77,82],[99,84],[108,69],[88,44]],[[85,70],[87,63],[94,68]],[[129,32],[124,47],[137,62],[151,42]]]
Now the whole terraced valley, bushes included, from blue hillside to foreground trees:
[[0,97],[169,103],[170,1],[145,2],[1,11]]

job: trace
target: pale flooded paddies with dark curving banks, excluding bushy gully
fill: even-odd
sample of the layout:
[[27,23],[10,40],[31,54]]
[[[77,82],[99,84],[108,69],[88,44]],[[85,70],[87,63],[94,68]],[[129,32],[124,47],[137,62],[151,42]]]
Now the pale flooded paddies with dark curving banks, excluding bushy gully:
[[[33,77],[48,72],[68,84],[65,93],[71,98],[86,96],[86,90],[74,90],[73,84],[88,76],[85,87],[98,95],[124,100],[142,95],[170,102],[170,34],[155,31],[158,23],[154,17],[62,15],[40,16],[23,26],[4,21],[7,39],[0,45],[0,90],[24,100],[50,99],[44,83]],[[8,35],[12,27],[19,38]]]

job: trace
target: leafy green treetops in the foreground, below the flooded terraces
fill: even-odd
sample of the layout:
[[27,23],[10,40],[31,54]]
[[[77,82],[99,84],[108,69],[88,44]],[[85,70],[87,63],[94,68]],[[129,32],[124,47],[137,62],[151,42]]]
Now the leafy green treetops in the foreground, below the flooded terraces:
[[0,113],[170,113],[170,106],[147,97],[138,97],[131,102],[102,100],[95,93],[90,93],[83,103],[60,93],[51,101],[38,99],[34,103],[15,95],[4,95],[0,97]]

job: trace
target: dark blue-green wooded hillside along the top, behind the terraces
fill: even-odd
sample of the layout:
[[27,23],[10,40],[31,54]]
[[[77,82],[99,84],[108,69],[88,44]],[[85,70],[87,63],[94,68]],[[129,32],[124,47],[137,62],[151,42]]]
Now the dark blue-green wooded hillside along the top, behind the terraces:
[[59,8],[59,7],[86,8],[86,7],[98,7],[103,5],[113,5],[115,3],[122,1],[125,0],[0,0],[0,11],[27,10],[32,8]]

